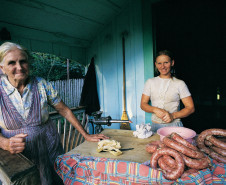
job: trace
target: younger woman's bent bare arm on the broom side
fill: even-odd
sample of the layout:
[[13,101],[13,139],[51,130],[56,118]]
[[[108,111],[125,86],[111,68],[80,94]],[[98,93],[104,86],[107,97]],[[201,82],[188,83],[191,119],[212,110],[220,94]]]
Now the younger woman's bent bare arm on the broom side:
[[142,94],[140,108],[145,112],[155,113],[157,117],[163,118],[168,112],[164,109],[160,109],[158,107],[153,107],[149,105],[150,97]]

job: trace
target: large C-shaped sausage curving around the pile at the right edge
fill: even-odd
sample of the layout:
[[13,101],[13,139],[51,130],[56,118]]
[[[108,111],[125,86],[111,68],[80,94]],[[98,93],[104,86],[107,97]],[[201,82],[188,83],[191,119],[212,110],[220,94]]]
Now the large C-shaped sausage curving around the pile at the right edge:
[[[212,152],[209,148],[205,146],[205,139],[208,135],[225,136],[226,130],[213,128],[213,129],[204,130],[199,134],[199,136],[196,139],[197,146],[202,152],[205,152],[206,154],[210,154]],[[211,155],[215,156],[215,154],[211,154]]]

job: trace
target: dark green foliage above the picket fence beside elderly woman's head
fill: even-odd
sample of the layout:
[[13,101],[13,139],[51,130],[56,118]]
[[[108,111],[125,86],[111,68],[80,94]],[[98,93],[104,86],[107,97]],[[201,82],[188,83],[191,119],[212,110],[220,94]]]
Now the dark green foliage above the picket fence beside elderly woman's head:
[[[67,59],[48,53],[31,53],[30,73],[49,81],[67,79]],[[85,67],[74,60],[70,60],[69,77],[83,78]]]

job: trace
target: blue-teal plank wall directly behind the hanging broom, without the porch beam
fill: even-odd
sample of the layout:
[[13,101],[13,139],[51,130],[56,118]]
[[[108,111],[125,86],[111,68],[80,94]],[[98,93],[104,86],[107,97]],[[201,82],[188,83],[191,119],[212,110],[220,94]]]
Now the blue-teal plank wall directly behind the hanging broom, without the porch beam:
[[[144,1],[132,1],[128,8],[118,15],[102,30],[92,47],[87,49],[87,64],[95,57],[98,94],[103,116],[121,119],[123,111],[123,56],[122,33],[128,32],[125,39],[126,68],[126,110],[129,119],[136,124],[147,123],[145,113],[140,109],[140,100],[144,82],[153,76],[151,4]],[[143,15],[148,11],[148,17]],[[147,29],[145,32],[144,29]],[[150,115],[147,115],[150,117]],[[112,124],[111,128],[119,128]]]

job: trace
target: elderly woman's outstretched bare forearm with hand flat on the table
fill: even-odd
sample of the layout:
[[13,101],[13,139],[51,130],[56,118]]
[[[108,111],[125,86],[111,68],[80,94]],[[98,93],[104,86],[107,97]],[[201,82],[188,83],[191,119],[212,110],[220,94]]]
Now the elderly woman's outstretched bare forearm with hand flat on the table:
[[63,116],[64,118],[66,118],[67,121],[70,122],[78,130],[78,132],[80,132],[83,135],[83,137],[87,141],[98,142],[100,139],[108,139],[108,137],[104,136],[103,134],[93,134],[93,135],[88,134],[84,130],[84,128],[82,127],[82,125],[80,124],[80,122],[78,121],[78,119],[75,117],[75,115],[73,114],[73,112],[69,109],[68,106],[66,106],[64,104],[63,101],[61,101],[57,105],[54,105],[54,108],[59,112],[59,114],[61,116]]

